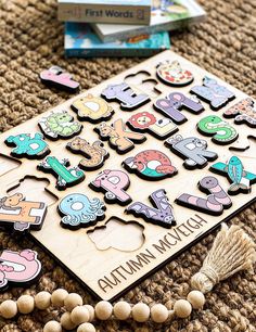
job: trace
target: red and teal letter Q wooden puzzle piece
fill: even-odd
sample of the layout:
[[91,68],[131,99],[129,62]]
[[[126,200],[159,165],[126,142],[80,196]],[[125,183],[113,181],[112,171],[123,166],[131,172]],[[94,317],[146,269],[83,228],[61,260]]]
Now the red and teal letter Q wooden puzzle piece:
[[177,174],[169,157],[158,150],[141,151],[126,158],[121,165],[145,180],[161,180]]

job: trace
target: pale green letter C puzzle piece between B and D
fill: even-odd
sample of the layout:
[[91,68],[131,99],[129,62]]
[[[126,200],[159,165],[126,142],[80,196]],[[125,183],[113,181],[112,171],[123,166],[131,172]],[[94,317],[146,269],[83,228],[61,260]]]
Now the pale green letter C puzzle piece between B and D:
[[52,140],[72,138],[82,129],[82,125],[74,122],[74,117],[66,111],[52,112],[43,116],[38,125],[43,135]]

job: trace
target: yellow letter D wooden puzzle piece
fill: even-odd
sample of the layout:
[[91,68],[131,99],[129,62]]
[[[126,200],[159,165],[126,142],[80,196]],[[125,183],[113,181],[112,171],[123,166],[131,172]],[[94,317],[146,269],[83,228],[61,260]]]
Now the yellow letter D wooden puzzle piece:
[[114,110],[104,99],[91,93],[77,98],[71,107],[80,122],[88,120],[92,124],[108,120],[114,115]]

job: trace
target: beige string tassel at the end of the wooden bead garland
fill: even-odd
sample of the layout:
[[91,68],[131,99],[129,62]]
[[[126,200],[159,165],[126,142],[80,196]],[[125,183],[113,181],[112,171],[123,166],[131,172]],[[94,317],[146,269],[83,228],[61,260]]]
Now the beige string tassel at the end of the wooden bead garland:
[[249,269],[256,261],[255,243],[239,226],[221,225],[201,270],[192,277],[193,289],[209,292],[216,283],[235,272]]

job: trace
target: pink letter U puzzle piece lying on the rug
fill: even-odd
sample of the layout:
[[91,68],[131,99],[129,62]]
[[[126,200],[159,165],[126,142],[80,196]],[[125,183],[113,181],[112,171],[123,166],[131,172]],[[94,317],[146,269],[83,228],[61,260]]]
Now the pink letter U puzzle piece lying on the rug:
[[41,271],[37,252],[24,250],[21,253],[3,251],[0,255],[0,290],[10,284],[26,285],[36,280]]

